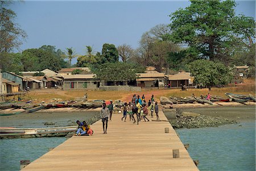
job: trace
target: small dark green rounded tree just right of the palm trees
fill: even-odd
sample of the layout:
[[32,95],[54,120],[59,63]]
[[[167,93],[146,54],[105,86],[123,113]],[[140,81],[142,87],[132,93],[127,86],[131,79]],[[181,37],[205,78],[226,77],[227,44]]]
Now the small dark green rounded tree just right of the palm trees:
[[115,45],[105,43],[102,46],[101,57],[104,62],[118,62],[118,51]]

